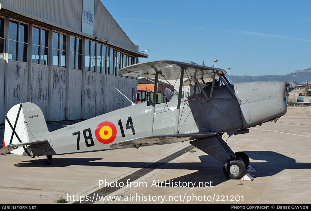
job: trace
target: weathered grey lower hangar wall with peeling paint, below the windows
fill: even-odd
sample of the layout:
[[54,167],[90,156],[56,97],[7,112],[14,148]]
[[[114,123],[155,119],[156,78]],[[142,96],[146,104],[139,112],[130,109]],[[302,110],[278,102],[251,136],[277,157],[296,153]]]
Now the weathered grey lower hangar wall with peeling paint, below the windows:
[[[32,102],[38,105],[47,121],[89,119],[100,114],[130,106],[129,102],[114,87],[121,90],[124,95],[132,99],[132,89],[137,89],[137,80],[122,78],[85,71],[83,102],[82,101],[82,70],[69,70],[67,68],[52,67],[51,79],[49,80],[49,66],[32,64],[30,84],[28,84],[28,64],[25,62],[11,61],[8,63],[7,73],[7,99],[4,99],[4,65],[5,60],[0,60],[0,123],[4,123],[4,115],[14,105],[23,102]],[[50,81],[50,84],[49,84]],[[66,85],[68,83],[68,90]],[[28,100],[28,87],[30,87],[30,100]],[[49,88],[50,112],[49,112]],[[66,95],[68,102],[66,106]],[[3,102],[7,102],[7,110],[4,111]],[[4,113],[4,112],[5,113]],[[66,118],[67,116],[67,118]]]

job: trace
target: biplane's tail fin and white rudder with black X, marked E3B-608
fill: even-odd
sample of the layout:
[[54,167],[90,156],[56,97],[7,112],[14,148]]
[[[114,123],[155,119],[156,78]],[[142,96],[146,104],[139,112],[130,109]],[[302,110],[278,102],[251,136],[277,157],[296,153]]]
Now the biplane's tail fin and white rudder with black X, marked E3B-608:
[[[39,106],[33,103],[17,104],[7,112],[3,147],[14,145],[12,153],[32,156],[31,150],[21,143],[36,141],[48,133],[49,130]],[[46,139],[46,136],[43,139]]]

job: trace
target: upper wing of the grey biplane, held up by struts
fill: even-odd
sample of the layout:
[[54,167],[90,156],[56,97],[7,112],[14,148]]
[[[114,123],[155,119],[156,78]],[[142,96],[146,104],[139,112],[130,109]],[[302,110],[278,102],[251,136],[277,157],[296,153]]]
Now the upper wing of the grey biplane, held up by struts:
[[132,77],[154,78],[156,72],[160,71],[165,79],[176,80],[181,68],[186,68],[187,71],[187,74],[184,74],[184,78],[191,78],[194,76],[196,76],[197,79],[211,78],[215,72],[226,74],[225,70],[219,68],[170,60],[156,60],[130,65],[120,69],[118,74]]

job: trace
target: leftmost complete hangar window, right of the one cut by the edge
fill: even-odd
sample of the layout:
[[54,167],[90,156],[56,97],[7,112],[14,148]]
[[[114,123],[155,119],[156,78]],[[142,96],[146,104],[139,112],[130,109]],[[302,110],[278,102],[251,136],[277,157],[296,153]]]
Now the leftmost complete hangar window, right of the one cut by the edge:
[[9,22],[9,56],[16,61],[27,61],[28,25],[18,21]]

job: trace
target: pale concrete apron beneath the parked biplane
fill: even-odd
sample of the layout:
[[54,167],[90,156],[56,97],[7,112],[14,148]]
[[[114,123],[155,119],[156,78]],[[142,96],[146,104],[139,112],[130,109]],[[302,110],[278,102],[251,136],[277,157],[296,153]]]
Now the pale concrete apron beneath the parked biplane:
[[[1,140],[3,132],[0,127]],[[80,199],[88,204],[311,204],[310,107],[289,107],[277,123],[224,140],[249,156],[253,181],[228,180],[223,164],[201,150],[191,153],[189,142],[57,155],[50,166],[44,156],[8,154],[0,155],[0,204],[57,204],[60,198],[67,204]]]

